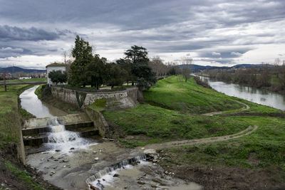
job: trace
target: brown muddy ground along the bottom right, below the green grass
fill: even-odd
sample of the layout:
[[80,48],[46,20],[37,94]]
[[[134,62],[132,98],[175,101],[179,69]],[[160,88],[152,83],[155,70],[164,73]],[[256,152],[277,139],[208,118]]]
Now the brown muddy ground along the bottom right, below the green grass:
[[[204,186],[204,189],[285,189],[285,182],[281,183],[278,169],[246,169],[240,167],[208,167],[208,166],[177,166],[167,162],[160,162],[167,171],[185,181],[194,181]],[[279,180],[276,180],[279,179]]]

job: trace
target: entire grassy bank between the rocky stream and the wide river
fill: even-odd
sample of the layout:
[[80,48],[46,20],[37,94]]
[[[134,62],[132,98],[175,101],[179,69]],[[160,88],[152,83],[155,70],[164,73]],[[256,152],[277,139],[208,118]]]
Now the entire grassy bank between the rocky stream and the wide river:
[[[211,131],[215,134],[219,132],[234,134],[233,129],[236,124],[239,127],[257,125],[257,130],[254,132],[229,141],[178,147],[163,147],[162,144],[163,148],[157,151],[160,155],[157,164],[166,171],[174,172],[175,176],[201,184],[204,189],[267,189],[285,186],[285,144],[283,143],[285,120],[275,117],[284,115],[283,111],[197,87],[193,79],[190,79],[189,83],[178,84],[180,88],[171,88],[172,83],[184,82],[178,80],[178,77],[167,79],[160,80],[162,83],[157,82],[150,88],[150,92],[145,93],[147,101],[156,104],[138,105],[130,110],[103,113],[108,122],[115,126],[113,128],[119,129],[118,134],[125,133],[125,136],[122,135],[119,139],[123,145],[136,147],[161,143],[163,140],[172,141],[175,140],[171,138],[172,134],[177,137],[176,140],[199,139]],[[186,85],[189,87],[185,87]],[[191,113],[188,107],[182,110],[181,106],[175,105],[179,100],[186,99],[183,97],[185,96],[183,91],[187,97],[195,100],[195,102],[187,100],[187,104],[198,104],[198,111],[196,109]],[[214,96],[214,92],[226,100],[243,102],[249,108],[241,109],[244,107],[241,104],[239,107],[229,105],[227,107],[231,109],[219,109],[222,111],[221,115],[197,114],[204,113],[200,111],[204,107],[205,110],[209,110],[206,108],[209,104],[204,104],[199,98],[212,99],[222,104],[219,97]],[[191,106],[193,105],[189,105]],[[232,116],[229,116],[230,114]],[[247,116],[240,116],[245,114]],[[219,129],[219,122],[228,125]],[[206,130],[203,130],[203,125]],[[185,135],[187,132],[195,134],[195,126],[199,128],[197,134],[201,136],[187,137]],[[242,131],[241,128],[239,131]]]

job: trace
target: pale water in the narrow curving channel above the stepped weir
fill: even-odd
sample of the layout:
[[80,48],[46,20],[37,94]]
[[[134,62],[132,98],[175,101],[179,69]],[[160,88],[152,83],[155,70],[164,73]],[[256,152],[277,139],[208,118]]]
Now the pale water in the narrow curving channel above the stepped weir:
[[66,112],[41,102],[41,100],[39,100],[38,96],[35,94],[36,88],[38,88],[38,85],[21,93],[21,107],[23,109],[27,110],[38,118],[66,115]]

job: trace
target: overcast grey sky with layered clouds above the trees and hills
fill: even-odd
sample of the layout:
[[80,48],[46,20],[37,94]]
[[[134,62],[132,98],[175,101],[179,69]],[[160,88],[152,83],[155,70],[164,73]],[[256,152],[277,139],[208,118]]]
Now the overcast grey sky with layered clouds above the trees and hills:
[[165,63],[272,63],[284,26],[284,0],[0,0],[0,67],[62,62],[76,35],[108,60],[137,45]]

